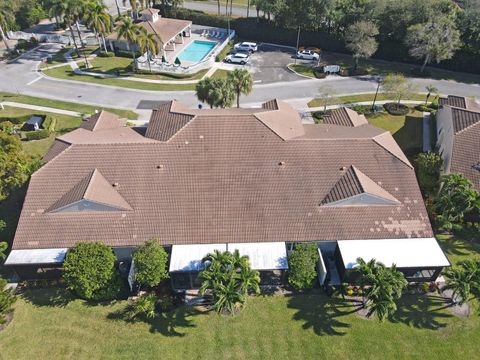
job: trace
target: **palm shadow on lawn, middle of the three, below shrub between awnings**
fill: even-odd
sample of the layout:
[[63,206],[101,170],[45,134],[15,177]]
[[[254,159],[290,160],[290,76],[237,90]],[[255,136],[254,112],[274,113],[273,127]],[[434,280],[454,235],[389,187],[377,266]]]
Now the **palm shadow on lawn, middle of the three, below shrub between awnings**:
[[304,321],[303,328],[312,328],[319,336],[345,335],[351,325],[339,318],[356,311],[352,302],[324,295],[292,295],[288,307],[297,310],[294,320]]

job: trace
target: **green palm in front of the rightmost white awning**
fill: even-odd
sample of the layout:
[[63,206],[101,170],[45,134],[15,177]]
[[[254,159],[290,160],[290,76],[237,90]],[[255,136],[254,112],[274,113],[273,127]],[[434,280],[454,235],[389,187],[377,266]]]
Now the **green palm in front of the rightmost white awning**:
[[375,314],[383,321],[397,311],[397,301],[407,286],[407,280],[394,264],[387,268],[375,260],[366,263],[362,258],[358,258],[357,263],[367,315]]

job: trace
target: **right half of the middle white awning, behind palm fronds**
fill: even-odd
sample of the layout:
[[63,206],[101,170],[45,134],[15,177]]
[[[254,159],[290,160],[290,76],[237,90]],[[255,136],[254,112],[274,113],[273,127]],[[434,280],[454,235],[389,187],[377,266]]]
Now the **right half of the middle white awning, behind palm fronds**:
[[247,255],[254,270],[288,269],[287,248],[284,242],[228,244],[228,251],[238,250]]

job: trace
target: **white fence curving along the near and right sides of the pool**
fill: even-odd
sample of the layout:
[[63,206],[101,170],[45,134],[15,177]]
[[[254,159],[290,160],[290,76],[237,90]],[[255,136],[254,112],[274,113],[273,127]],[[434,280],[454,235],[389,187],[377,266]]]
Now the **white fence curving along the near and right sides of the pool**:
[[183,65],[175,65],[170,63],[164,63],[160,59],[153,59],[150,60],[150,65],[148,64],[147,55],[140,56],[137,58],[137,68],[141,70],[150,69],[155,72],[169,72],[175,74],[193,74],[203,69],[208,69],[213,66],[215,63],[215,58],[218,54],[227,46],[228,42],[235,37],[235,30],[230,30],[230,34],[225,38],[222,43],[215,45],[213,50],[208,54],[208,56],[203,59],[202,61],[190,65],[190,66],[183,66]]

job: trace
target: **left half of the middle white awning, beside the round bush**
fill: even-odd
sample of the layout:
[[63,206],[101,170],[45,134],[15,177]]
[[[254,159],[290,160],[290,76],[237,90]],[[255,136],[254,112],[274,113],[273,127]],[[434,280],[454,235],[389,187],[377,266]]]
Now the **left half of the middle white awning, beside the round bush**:
[[227,244],[173,245],[170,272],[203,270],[202,259],[215,250],[226,251]]

